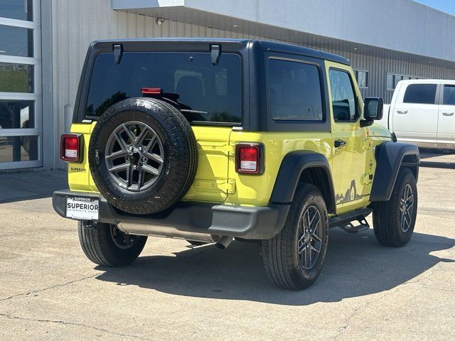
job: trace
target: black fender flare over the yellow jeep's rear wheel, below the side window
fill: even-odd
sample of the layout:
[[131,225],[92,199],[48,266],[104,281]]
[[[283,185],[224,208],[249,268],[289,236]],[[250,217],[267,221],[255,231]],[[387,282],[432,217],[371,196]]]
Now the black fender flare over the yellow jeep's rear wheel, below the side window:
[[320,188],[320,190],[324,200],[326,200],[328,212],[335,213],[335,191],[333,190],[331,168],[326,156],[315,151],[291,151],[291,153],[284,156],[270,201],[279,203],[291,202],[297,185],[299,185],[301,174],[307,168],[321,168],[323,171],[326,186],[324,186],[325,190],[324,188]]

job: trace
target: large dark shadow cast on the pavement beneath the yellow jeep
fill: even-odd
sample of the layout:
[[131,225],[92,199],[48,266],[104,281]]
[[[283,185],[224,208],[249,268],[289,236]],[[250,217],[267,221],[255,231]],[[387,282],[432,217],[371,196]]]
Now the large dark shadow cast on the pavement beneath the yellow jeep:
[[414,234],[400,249],[381,247],[373,230],[356,235],[331,230],[323,273],[305,291],[285,291],[271,283],[256,244],[234,242],[225,251],[213,245],[176,256],[142,256],[131,266],[106,269],[97,279],[180,296],[258,301],[282,305],[336,302],[394,288],[441,259],[430,253],[450,249],[455,239]]

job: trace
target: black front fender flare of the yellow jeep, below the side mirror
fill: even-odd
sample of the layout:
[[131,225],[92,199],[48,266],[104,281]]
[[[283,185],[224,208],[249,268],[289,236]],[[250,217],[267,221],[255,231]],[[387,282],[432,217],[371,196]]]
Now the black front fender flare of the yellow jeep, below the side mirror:
[[385,142],[376,147],[376,170],[370,201],[388,201],[400,168],[410,168],[415,180],[419,178],[419,148],[412,144]]

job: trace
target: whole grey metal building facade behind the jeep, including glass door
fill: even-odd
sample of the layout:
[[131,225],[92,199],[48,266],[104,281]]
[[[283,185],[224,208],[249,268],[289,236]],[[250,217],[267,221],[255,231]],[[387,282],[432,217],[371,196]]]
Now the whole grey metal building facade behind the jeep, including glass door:
[[63,168],[90,41],[260,38],[348,58],[363,96],[455,79],[455,16],[412,0],[0,0],[0,171]]

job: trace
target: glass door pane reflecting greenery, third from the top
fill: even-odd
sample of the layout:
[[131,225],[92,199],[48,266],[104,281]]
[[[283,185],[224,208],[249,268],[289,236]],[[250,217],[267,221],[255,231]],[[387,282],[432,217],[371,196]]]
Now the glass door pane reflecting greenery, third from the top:
[[33,92],[33,65],[0,63],[0,92]]

